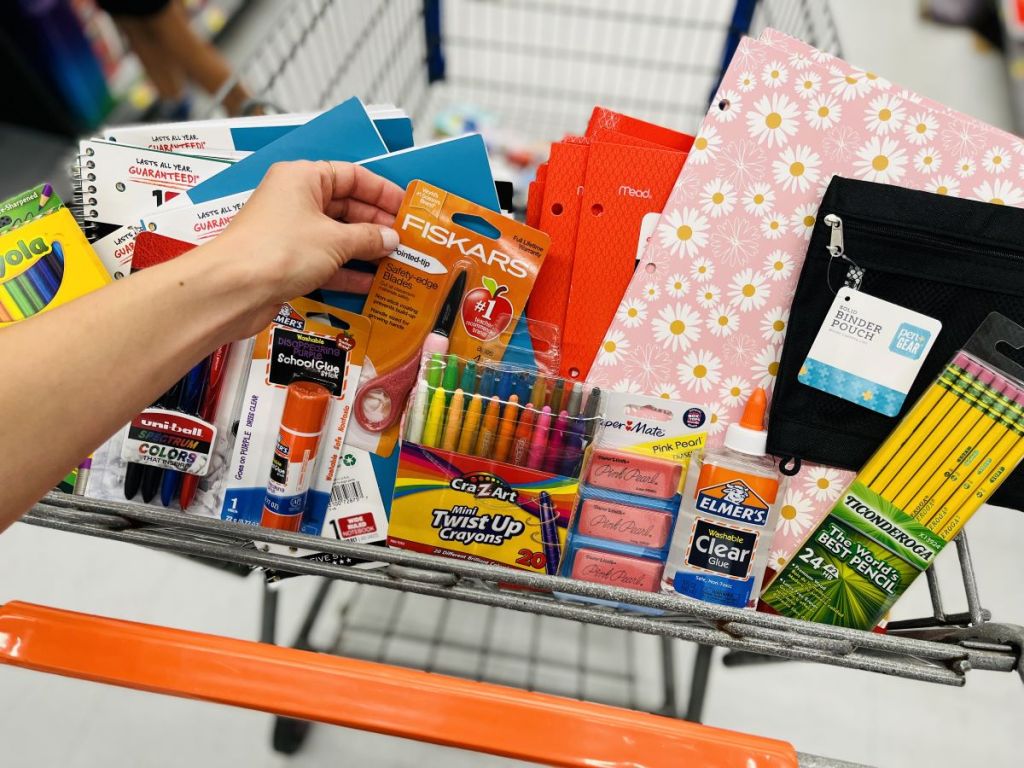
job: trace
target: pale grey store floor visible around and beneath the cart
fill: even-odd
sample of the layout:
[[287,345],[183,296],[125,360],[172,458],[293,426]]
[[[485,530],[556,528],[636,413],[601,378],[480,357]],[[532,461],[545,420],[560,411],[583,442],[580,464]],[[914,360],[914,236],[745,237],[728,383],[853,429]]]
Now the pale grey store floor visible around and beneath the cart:
[[[264,9],[272,5],[267,0],[258,3]],[[914,18],[912,0],[835,6],[848,58],[979,118],[1008,124],[1000,62],[979,52],[969,36],[922,27]],[[265,24],[266,15],[258,8],[250,13],[226,41],[228,52],[237,56],[248,49]],[[45,143],[31,135],[18,140]],[[47,147],[22,157],[42,157],[47,168],[36,170],[39,163],[11,167],[10,155],[5,154],[5,188],[27,186],[56,163]],[[970,534],[986,607],[997,620],[1024,622],[1020,555],[1024,514],[985,509],[972,521]],[[951,580],[955,560],[952,551],[944,553],[937,567],[948,579],[949,602],[959,607],[963,601]],[[294,633],[314,587],[309,579],[282,585],[282,638]],[[258,634],[260,596],[257,577],[241,579],[140,548],[27,525],[0,537],[0,602],[26,600],[253,639]],[[344,585],[334,590],[315,638],[319,643],[333,640],[348,596]],[[909,616],[927,611],[927,594],[919,584],[897,612]],[[409,621],[428,620],[411,614]],[[529,620],[523,616],[523,621]],[[563,631],[566,643],[574,642],[571,630]],[[634,652],[643,655],[648,640],[641,639]],[[683,643],[676,646],[678,683],[685,690],[694,651]],[[656,700],[660,685],[656,675],[642,664],[640,671],[641,699]],[[972,672],[967,687],[956,689],[809,664],[741,669],[717,665],[705,720],[786,739],[801,751],[894,768],[1011,768],[1021,764],[1024,752],[1024,690],[1020,678],[1010,674]],[[518,765],[328,726],[315,726],[305,749],[286,759],[269,750],[269,729],[270,718],[262,713],[0,668],[0,764],[4,766]]]

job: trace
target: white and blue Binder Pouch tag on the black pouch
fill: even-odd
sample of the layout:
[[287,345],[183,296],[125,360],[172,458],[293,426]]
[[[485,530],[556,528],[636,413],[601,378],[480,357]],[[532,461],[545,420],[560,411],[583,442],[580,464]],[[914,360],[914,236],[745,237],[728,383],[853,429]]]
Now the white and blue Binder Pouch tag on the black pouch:
[[896,416],[942,324],[850,288],[841,288],[798,380]]

